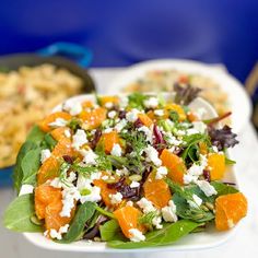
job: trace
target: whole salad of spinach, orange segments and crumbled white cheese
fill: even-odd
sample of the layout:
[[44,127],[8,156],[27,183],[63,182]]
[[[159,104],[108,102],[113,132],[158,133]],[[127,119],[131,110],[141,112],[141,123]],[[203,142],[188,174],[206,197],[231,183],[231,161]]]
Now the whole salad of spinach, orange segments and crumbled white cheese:
[[[225,116],[191,110],[198,90],[68,99],[36,125],[14,171],[5,227],[57,243],[169,245],[214,224],[227,231],[247,200],[223,181],[238,143]],[[192,235],[195,237],[195,235]]]

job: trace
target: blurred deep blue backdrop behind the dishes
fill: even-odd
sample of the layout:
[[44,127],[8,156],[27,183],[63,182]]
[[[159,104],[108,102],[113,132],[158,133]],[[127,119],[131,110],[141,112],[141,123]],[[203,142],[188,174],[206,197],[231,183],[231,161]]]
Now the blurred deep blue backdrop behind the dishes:
[[66,40],[90,47],[94,67],[189,58],[244,81],[258,59],[257,13],[257,0],[1,0],[0,55]]

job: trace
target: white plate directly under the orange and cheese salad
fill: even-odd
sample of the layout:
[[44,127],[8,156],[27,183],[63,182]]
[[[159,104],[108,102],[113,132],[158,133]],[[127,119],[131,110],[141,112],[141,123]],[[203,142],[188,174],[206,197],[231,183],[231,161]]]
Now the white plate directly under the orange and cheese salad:
[[[169,96],[169,94],[164,94],[164,95],[165,97]],[[95,101],[95,96],[94,95],[80,95],[80,96],[72,97],[70,99],[74,102],[83,102],[85,99]],[[61,104],[58,105],[56,108],[54,108],[52,112],[60,110],[61,106],[62,106]],[[206,108],[207,110],[206,119],[213,118],[216,116],[214,108],[202,98],[199,98],[199,97],[196,98],[190,104],[190,106],[192,110],[198,109],[200,107]],[[234,169],[225,174],[224,180],[234,183],[236,184],[236,187],[238,187]],[[225,243],[234,234],[237,226],[235,226],[233,230],[227,231],[227,232],[218,232],[215,231],[214,226],[210,226],[206,232],[190,234],[169,246],[139,248],[139,249],[115,249],[115,248],[108,248],[105,243],[93,243],[93,242],[87,243],[86,241],[79,241],[71,244],[57,244],[46,238],[40,233],[23,233],[23,235],[32,244],[42,248],[52,249],[52,250],[85,251],[85,253],[146,253],[146,251],[161,251],[161,250],[162,251],[164,250],[186,251],[186,250],[198,250],[198,249],[211,248],[211,247],[221,245]]]

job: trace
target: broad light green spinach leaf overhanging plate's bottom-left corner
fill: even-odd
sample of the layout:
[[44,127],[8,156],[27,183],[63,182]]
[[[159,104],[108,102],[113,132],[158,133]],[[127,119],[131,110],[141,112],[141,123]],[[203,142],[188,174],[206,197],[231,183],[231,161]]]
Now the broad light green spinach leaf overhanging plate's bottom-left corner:
[[3,225],[15,232],[40,232],[42,226],[31,221],[34,213],[33,195],[19,196],[5,210],[3,214]]

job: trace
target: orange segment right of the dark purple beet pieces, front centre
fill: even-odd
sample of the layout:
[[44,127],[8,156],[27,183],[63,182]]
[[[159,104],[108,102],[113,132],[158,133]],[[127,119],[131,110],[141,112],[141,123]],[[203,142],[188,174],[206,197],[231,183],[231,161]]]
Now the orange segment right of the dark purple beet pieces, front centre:
[[143,185],[143,191],[144,197],[159,209],[167,206],[172,198],[168,185],[164,179],[155,179],[154,172],[148,176]]

